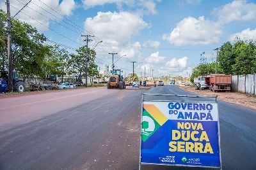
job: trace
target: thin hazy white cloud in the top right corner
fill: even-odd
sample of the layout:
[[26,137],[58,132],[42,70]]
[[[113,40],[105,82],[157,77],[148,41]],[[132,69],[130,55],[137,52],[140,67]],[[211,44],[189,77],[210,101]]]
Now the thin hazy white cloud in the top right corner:
[[256,21],[256,3],[246,3],[246,1],[237,0],[220,8],[214,8],[213,13],[218,16],[222,23],[235,20]]

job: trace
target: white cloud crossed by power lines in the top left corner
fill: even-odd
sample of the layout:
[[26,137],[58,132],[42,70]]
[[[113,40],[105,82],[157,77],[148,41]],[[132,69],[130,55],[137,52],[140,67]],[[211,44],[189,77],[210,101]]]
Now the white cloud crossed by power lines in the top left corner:
[[[24,6],[24,4],[26,4],[28,1],[25,1],[25,2],[20,1],[20,2],[12,1],[12,0],[10,1],[10,4],[12,5],[10,6],[12,11],[11,13],[12,16],[15,15],[15,13],[17,13],[20,10],[20,8],[22,8],[22,6]],[[22,22],[26,22],[32,25],[33,27],[36,27],[38,31],[45,31],[45,30],[48,30],[47,27],[49,27],[49,24],[50,24],[49,18],[51,18],[51,20],[62,19],[62,17],[58,15],[58,13],[55,13],[54,11],[49,10],[47,6],[58,11],[62,15],[68,15],[68,16],[72,14],[72,10],[74,10],[74,7],[75,7],[74,0],[63,0],[61,4],[59,4],[59,0],[45,0],[42,2],[38,0],[31,1],[28,4],[28,6],[26,6],[22,11],[20,11],[20,13],[15,18],[19,18],[19,20],[21,20]],[[6,5],[4,3],[1,3],[0,9],[6,11]],[[52,14],[48,13],[47,11],[50,11],[52,14],[54,14],[58,18],[54,17]],[[42,24],[36,22],[34,19]]]

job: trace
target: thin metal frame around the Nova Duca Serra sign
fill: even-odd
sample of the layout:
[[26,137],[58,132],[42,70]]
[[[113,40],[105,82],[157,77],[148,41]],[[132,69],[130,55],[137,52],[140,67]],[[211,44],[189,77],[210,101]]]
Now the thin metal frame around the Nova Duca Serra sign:
[[[143,96],[168,96],[168,97],[209,97],[215,98],[215,101],[185,101],[185,100],[145,100]],[[217,104],[217,111],[218,111],[218,145],[219,145],[219,152],[220,152],[220,167],[212,167],[212,166],[195,166],[195,165],[184,165],[184,164],[156,164],[156,163],[147,163],[141,162],[141,141],[142,141],[142,117],[143,117],[143,101],[156,101],[156,102],[188,102],[188,103],[198,103],[198,102],[207,102],[207,103],[216,103]],[[159,166],[177,166],[177,167],[204,167],[204,168],[214,168],[214,169],[221,169],[222,170],[222,162],[221,162],[221,148],[220,148],[220,117],[219,117],[219,106],[218,106],[218,96],[189,96],[189,95],[175,95],[175,94],[150,94],[150,93],[143,93],[141,97],[141,131],[140,131],[140,161],[139,161],[139,170],[141,169],[141,165],[159,165]]]

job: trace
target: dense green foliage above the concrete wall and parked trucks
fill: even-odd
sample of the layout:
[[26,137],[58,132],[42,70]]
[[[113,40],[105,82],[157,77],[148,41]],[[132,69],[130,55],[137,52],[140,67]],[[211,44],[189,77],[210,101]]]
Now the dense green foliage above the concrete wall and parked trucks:
[[[215,73],[215,62],[200,64],[192,70],[190,81],[196,76]],[[237,39],[234,43],[226,42],[220,47],[218,55],[218,73],[253,74],[256,73],[256,43]]]

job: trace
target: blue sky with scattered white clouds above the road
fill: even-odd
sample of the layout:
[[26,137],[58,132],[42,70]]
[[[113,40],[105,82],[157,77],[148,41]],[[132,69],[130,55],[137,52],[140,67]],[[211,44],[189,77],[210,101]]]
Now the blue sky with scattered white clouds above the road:
[[[28,1],[10,0],[11,15]],[[115,69],[126,75],[136,61],[139,75],[189,76],[201,54],[212,62],[226,41],[256,41],[256,0],[32,0],[15,18],[72,53],[86,44],[82,34],[95,36],[96,64],[103,69],[118,53]]]

